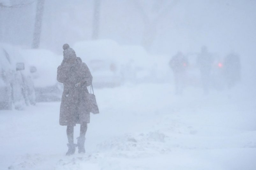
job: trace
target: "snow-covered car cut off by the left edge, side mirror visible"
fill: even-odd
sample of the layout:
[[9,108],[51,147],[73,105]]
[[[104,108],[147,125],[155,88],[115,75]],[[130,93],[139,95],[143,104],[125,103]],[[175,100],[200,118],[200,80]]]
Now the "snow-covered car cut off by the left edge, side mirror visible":
[[30,71],[19,49],[9,44],[0,44],[0,93],[0,109],[22,110],[35,105]]

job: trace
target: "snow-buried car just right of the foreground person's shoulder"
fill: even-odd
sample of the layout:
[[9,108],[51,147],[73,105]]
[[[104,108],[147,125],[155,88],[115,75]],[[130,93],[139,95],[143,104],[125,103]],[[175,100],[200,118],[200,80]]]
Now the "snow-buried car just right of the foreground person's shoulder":
[[[74,44],[77,57],[89,67],[94,87],[115,87],[122,83],[118,44],[111,40],[81,41]],[[114,48],[114,49],[113,49]]]

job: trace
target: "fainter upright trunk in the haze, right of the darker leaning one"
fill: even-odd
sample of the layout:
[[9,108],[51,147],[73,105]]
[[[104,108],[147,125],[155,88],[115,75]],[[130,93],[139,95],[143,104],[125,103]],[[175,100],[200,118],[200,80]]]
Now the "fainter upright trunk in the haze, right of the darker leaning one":
[[94,13],[92,23],[92,39],[98,39],[99,37],[99,14],[100,14],[100,1],[94,0]]

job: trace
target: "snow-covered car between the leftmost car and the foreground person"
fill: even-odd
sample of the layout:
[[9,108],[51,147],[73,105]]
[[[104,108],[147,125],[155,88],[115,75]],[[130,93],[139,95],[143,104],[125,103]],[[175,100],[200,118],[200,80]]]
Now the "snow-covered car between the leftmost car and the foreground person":
[[36,102],[60,101],[63,85],[56,78],[63,57],[43,49],[26,49],[21,53],[32,72]]

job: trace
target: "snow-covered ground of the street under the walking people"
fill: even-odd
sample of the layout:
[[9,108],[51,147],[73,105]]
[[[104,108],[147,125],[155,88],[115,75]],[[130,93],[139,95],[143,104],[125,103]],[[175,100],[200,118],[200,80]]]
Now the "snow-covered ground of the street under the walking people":
[[[170,84],[95,89],[85,154],[65,156],[60,103],[0,111],[0,169],[255,170],[255,94],[210,92]],[[75,137],[79,126],[75,127]]]

